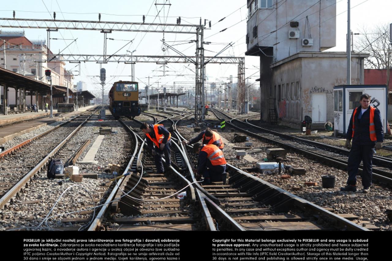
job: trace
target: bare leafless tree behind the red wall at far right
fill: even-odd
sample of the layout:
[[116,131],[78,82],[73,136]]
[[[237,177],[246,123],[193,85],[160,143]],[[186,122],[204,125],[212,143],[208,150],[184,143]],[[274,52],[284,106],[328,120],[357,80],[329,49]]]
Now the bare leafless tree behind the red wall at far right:
[[360,53],[369,53],[365,58],[366,69],[387,69],[390,59],[389,24],[378,25],[373,29],[363,28],[355,39],[355,49]]

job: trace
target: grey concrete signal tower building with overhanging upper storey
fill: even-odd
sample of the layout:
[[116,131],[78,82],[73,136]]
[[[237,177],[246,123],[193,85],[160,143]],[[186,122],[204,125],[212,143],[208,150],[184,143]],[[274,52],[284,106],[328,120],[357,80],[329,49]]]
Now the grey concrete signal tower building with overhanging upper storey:
[[[347,78],[347,54],[325,52],[336,45],[336,0],[247,0],[247,7],[245,55],[260,56],[261,120],[333,122],[333,88]],[[365,57],[351,56],[352,84],[364,84]]]

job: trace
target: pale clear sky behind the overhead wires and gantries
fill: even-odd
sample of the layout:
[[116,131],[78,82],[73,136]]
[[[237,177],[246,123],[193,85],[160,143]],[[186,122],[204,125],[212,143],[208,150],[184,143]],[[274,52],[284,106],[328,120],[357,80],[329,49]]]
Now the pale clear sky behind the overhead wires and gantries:
[[[309,0],[311,3],[317,0]],[[347,33],[347,0],[336,0],[337,14],[337,41],[336,47],[328,51],[345,51],[345,39]],[[351,0],[351,27],[354,33],[359,29],[372,27],[379,24],[392,23],[392,0]],[[171,4],[169,5],[154,5]],[[212,42],[205,45],[205,55],[214,56],[221,51],[230,42],[233,44],[220,56],[243,56],[246,51],[246,0],[19,0],[19,1],[2,1],[0,17],[12,17],[12,11],[16,11],[17,18],[41,18],[51,19],[53,11],[56,12],[56,19],[67,20],[98,20],[98,13],[101,13],[101,21],[127,21],[142,22],[142,15],[146,15],[145,22],[166,22],[176,23],[178,16],[181,16],[181,24],[198,24],[200,17],[212,21],[212,28],[205,30],[204,40]],[[157,16],[159,12],[159,15]],[[226,17],[221,22],[221,18]],[[222,29],[225,31],[219,33]],[[7,30],[6,28],[2,28]],[[8,29],[11,30],[11,29]],[[46,31],[44,29],[25,29],[27,38],[30,40],[46,40]],[[107,34],[109,38],[116,40],[107,40],[107,54],[113,54],[120,50],[123,45],[127,44],[125,40],[133,40],[131,44],[126,45],[117,54],[129,54],[126,51],[134,51],[135,55],[176,55],[171,50],[162,51],[163,33],[128,33],[113,32]],[[68,54],[103,54],[103,34],[99,31],[81,31],[81,30],[59,30],[53,32],[52,38],[76,39],[76,44],[71,44],[63,53]],[[189,44],[189,40],[196,37],[193,34],[171,34],[164,35],[165,41],[173,45],[176,49],[186,55],[193,56],[195,53],[195,44]],[[170,42],[176,41],[176,42]],[[182,41],[182,42],[181,42]],[[355,38],[354,38],[355,41]],[[72,40],[52,40],[51,49],[57,53],[71,43]],[[73,68],[75,64],[67,64],[66,69],[77,70]],[[102,65],[106,69],[107,87],[115,80],[130,80],[131,65],[123,63],[108,63]],[[254,56],[245,58],[245,76],[251,76],[249,83],[258,78],[259,59]],[[100,65],[89,62],[81,64],[80,76],[75,76],[76,82],[82,80],[87,83],[87,89],[98,93],[100,85],[98,77]],[[154,87],[166,85],[176,86],[194,83],[193,75],[170,76],[172,74],[194,74],[195,67],[192,64],[173,64],[169,63],[166,67],[166,74],[163,77],[162,65],[150,63],[138,63],[135,67],[138,81],[147,83],[147,77],[152,77],[150,83]],[[74,72],[78,74],[78,72]],[[233,82],[236,82],[237,66],[236,65],[207,65],[207,82],[227,82],[227,78],[233,75]],[[190,83],[180,83],[190,82]],[[143,84],[141,85],[143,86]]]

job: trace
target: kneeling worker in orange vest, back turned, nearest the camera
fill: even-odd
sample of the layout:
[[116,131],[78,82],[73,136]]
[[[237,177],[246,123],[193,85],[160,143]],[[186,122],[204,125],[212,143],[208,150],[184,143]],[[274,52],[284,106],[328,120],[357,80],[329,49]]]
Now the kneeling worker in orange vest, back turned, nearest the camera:
[[197,172],[203,175],[204,185],[211,184],[211,181],[223,181],[226,184],[226,159],[218,147],[196,143],[193,152],[199,154]]

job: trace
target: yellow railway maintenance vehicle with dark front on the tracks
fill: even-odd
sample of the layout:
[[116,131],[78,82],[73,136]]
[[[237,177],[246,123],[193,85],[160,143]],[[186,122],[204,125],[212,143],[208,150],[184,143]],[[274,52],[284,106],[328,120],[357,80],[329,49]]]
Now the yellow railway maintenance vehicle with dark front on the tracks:
[[115,117],[140,115],[138,82],[118,81],[109,91],[110,110]]

